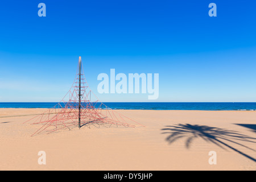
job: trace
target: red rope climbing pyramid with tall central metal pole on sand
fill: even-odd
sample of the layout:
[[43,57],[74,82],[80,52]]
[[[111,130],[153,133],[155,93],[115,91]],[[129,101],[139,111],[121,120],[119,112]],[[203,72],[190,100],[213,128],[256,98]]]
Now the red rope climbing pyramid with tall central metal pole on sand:
[[80,129],[81,127],[143,126],[116,113],[98,100],[86,82],[81,57],[79,57],[75,81],[65,97],[51,109],[26,122],[42,125],[32,136],[71,130],[74,127]]

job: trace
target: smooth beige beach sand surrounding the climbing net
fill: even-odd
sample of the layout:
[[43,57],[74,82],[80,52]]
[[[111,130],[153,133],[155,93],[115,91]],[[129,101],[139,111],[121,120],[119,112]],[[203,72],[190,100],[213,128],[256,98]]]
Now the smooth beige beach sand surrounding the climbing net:
[[[0,109],[1,170],[256,170],[256,111],[117,110],[146,127],[30,137],[40,126],[23,122],[44,110]],[[46,165],[38,164],[39,151]]]

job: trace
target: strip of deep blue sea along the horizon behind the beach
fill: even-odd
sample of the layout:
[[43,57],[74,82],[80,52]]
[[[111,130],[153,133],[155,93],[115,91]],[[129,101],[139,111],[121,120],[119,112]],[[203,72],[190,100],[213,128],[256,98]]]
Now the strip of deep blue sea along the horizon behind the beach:
[[[0,102],[0,108],[51,108],[55,102]],[[111,109],[256,110],[256,102],[104,102]]]

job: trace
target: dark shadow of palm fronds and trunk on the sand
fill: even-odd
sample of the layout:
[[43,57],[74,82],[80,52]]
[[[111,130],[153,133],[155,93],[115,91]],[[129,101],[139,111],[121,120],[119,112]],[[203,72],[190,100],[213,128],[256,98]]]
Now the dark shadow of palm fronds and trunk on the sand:
[[241,154],[246,158],[256,162],[256,159],[254,159],[253,157],[225,143],[225,142],[231,142],[233,144],[238,144],[242,147],[245,147],[255,152],[253,148],[247,147],[244,144],[241,144],[240,142],[244,141],[244,142],[256,143],[255,141],[256,138],[248,137],[247,135],[240,134],[237,131],[220,129],[218,127],[210,127],[210,126],[204,126],[204,125],[190,125],[190,124],[185,124],[185,125],[178,124],[174,126],[166,126],[166,128],[162,130],[166,131],[162,134],[170,134],[166,138],[167,142],[170,144],[174,143],[177,139],[185,138],[186,139],[185,146],[189,148],[194,139],[201,138],[207,142],[214,143],[221,148],[228,147],[231,150],[236,151],[238,154]]

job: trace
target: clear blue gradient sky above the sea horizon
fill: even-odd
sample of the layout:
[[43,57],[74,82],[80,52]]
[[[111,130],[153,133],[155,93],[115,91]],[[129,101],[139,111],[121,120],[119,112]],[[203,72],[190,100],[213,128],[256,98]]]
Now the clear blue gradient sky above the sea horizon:
[[[38,4],[46,4],[46,17]],[[217,17],[209,17],[209,3]],[[99,94],[97,76],[159,73],[156,102],[256,102],[256,1],[3,1],[0,102],[58,102],[82,56],[100,100],[147,102],[147,94]]]

